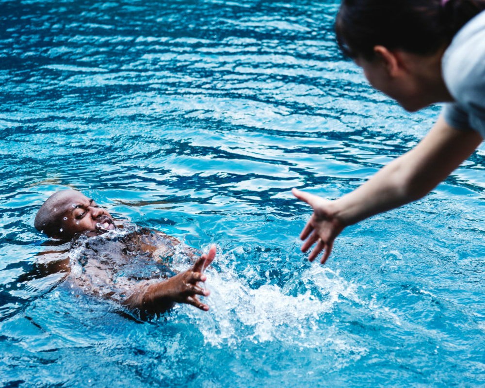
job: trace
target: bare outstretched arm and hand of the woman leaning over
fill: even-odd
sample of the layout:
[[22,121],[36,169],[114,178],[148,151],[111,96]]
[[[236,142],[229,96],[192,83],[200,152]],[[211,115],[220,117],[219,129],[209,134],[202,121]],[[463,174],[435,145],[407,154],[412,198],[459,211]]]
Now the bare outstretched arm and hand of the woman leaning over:
[[440,116],[430,132],[410,151],[379,170],[353,192],[334,201],[293,189],[293,194],[313,208],[300,238],[306,252],[317,243],[308,259],[322,250],[328,259],[335,238],[345,226],[374,214],[415,201],[433,190],[482,142],[475,131],[459,131]]

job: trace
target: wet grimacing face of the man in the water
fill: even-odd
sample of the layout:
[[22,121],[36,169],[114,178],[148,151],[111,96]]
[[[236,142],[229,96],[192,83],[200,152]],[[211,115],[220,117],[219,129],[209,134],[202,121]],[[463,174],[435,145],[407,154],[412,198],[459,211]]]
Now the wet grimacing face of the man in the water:
[[105,231],[115,228],[108,211],[97,206],[93,199],[78,191],[69,191],[55,208],[61,225],[60,234],[71,238],[84,231]]

